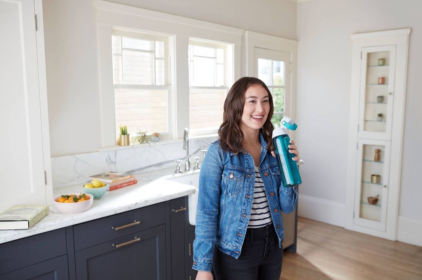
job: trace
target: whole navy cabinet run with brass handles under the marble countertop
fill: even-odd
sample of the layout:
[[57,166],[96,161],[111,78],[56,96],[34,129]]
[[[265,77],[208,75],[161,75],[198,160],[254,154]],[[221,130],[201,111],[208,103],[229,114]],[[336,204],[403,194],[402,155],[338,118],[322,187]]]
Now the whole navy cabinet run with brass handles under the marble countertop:
[[193,280],[187,205],[180,197],[0,244],[0,280]]

